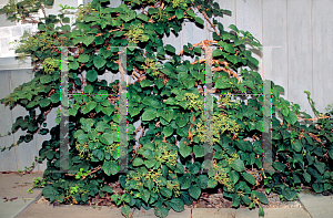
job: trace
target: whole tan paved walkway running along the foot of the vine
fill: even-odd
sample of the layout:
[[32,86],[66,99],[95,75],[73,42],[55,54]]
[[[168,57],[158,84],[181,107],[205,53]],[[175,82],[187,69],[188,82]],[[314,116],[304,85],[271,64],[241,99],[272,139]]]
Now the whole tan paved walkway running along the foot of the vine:
[[[42,173],[16,175],[0,174],[0,218],[123,218],[118,208],[89,206],[49,206],[36,204],[41,189],[27,193],[32,187],[33,177]],[[3,199],[4,198],[4,199]],[[8,199],[6,201],[6,199]],[[300,208],[265,208],[265,218],[331,218],[333,217],[333,197],[300,194],[303,207]],[[155,218],[153,209],[134,210],[134,218]],[[258,209],[246,208],[188,208],[182,212],[169,211],[168,218],[258,218]]]

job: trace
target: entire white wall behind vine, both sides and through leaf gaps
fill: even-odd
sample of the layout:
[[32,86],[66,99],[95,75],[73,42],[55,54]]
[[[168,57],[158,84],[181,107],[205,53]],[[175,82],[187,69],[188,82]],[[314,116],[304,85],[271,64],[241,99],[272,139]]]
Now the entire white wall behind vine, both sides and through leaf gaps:
[[[6,0],[2,0],[6,1]],[[0,1],[0,4],[1,2]],[[90,2],[84,0],[83,2]],[[56,0],[59,3],[74,6],[78,1]],[[264,46],[280,46],[272,49],[272,71],[266,71],[263,63],[263,54],[256,51],[260,59],[260,73],[263,77],[273,80],[285,89],[284,96],[301,108],[312,114],[307,103],[305,90],[312,93],[320,112],[324,112],[327,104],[333,103],[333,1],[332,0],[219,0],[223,9],[232,11],[232,17],[225,15],[220,21],[228,28],[229,24],[236,24],[241,30],[250,31]],[[81,1],[79,1],[81,3]],[[119,6],[120,0],[111,0],[111,6]],[[56,12],[56,9],[49,9]],[[1,17],[0,17],[1,20]],[[22,33],[27,27],[3,23],[0,28],[0,58],[8,55],[8,42]],[[178,38],[164,39],[165,43],[173,44],[178,51],[188,42],[196,43],[201,40],[211,39],[205,30],[198,30],[193,24],[185,23],[183,31]],[[268,54],[264,54],[268,55]],[[9,55],[10,56],[10,55]],[[0,62],[0,97],[4,97],[16,86],[31,80],[27,70],[8,60]],[[9,66],[12,66],[8,69]],[[21,70],[13,70],[21,68]],[[265,69],[265,71],[263,71]],[[2,70],[2,71],[1,71]],[[4,71],[7,70],[7,71]],[[0,105],[0,133],[11,128],[11,123],[24,110],[16,108],[10,111]],[[52,120],[51,117],[48,121]],[[0,147],[10,145],[19,137],[13,136],[0,138]],[[6,153],[0,153],[0,172],[23,169],[33,160],[41,145],[42,138],[38,138],[29,145],[22,144],[19,147]],[[41,166],[39,169],[43,169]]]

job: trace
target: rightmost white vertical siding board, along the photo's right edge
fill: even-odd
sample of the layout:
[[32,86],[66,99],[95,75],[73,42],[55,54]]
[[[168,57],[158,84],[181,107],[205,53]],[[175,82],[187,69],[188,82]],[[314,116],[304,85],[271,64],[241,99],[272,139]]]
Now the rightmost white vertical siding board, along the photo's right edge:
[[317,111],[333,104],[333,1],[313,0],[313,93]]

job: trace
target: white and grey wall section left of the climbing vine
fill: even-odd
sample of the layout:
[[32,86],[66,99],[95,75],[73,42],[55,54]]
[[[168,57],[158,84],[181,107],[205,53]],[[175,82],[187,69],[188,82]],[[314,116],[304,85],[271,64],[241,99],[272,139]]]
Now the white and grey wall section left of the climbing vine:
[[[0,0],[0,7],[2,8],[7,3],[7,0]],[[54,7],[49,7],[46,9],[47,14],[57,14],[60,3],[69,6],[78,6],[82,3],[82,0],[54,0]],[[10,50],[9,42],[13,40],[19,40],[23,34],[24,30],[36,31],[36,25],[31,24],[20,24],[8,22],[4,15],[0,15],[0,98],[6,97],[10,94],[17,86],[24,82],[29,82],[33,79],[31,74],[31,64],[28,62],[20,64],[16,59],[13,50]],[[6,22],[4,22],[6,21]],[[48,115],[47,124],[48,127],[56,125],[56,111]],[[18,116],[26,116],[28,112],[21,107],[16,106],[13,110],[9,110],[3,104],[0,105],[0,134],[8,133],[11,129],[12,123],[16,122]],[[18,131],[16,134],[0,137],[0,147],[8,147],[16,143],[22,131]],[[23,132],[24,133],[24,132]],[[4,170],[17,170],[24,169],[24,167],[31,166],[33,157],[38,156],[38,152],[41,148],[43,141],[49,139],[50,135],[34,135],[34,139],[30,143],[22,143],[20,146],[13,147],[11,150],[0,152],[0,172]],[[34,170],[44,170],[46,163],[38,165]]]

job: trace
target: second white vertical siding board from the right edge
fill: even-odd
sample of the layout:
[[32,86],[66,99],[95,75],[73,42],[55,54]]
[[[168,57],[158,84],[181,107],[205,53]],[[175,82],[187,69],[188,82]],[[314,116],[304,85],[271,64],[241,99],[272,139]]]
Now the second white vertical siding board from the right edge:
[[287,1],[289,101],[313,115],[304,91],[312,92],[311,0]]

